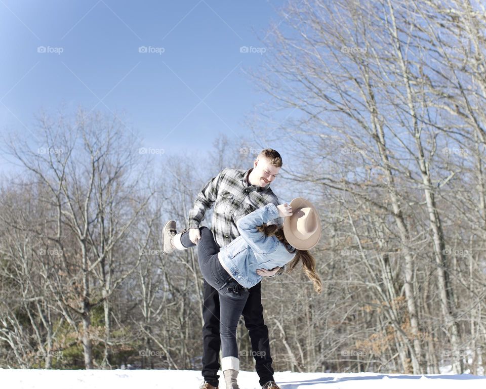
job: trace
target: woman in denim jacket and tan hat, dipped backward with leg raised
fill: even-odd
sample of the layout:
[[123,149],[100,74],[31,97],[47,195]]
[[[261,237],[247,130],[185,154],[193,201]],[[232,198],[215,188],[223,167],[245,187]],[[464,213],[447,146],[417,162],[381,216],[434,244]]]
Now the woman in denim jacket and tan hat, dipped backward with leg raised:
[[[266,225],[278,217],[285,218],[283,227]],[[201,227],[197,245],[201,273],[219,293],[221,368],[227,389],[238,388],[236,327],[248,298],[248,288],[261,281],[265,270],[291,261],[290,270],[302,262],[317,292],[322,286],[315,271],[314,257],[307,251],[317,244],[321,234],[319,215],[309,201],[296,198],[290,205],[268,204],[239,219],[236,226],[240,236],[222,248],[214,241],[211,230]],[[169,231],[163,232],[163,237],[172,236],[170,245],[180,244],[188,235],[187,231],[172,232],[172,235]]]

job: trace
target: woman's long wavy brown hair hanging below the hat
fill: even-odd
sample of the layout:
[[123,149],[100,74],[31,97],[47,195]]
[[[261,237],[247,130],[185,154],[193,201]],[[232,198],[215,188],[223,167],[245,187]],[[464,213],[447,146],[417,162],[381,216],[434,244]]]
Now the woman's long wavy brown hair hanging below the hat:
[[282,243],[284,243],[287,251],[295,252],[295,257],[289,265],[289,272],[294,270],[299,262],[302,262],[302,268],[304,269],[304,273],[312,281],[314,284],[314,290],[317,293],[322,291],[322,281],[319,278],[319,275],[315,271],[315,258],[308,250],[299,250],[293,247],[287,239],[285,239],[284,229],[278,227],[275,224],[271,224],[267,226],[266,224],[262,226],[258,226],[257,230],[263,232],[267,236],[275,235],[275,237]]

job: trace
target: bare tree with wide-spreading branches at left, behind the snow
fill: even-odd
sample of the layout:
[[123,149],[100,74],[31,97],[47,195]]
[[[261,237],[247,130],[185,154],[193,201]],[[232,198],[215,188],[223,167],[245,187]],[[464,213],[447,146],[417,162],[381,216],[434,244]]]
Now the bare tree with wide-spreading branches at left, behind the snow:
[[[143,169],[137,170],[134,143],[117,118],[79,110],[71,124],[65,117],[54,123],[42,116],[39,134],[46,144],[37,152],[19,139],[11,140],[10,150],[45,189],[38,193],[39,201],[49,204],[54,216],[46,243],[59,254],[55,277],[47,278],[50,298],[74,328],[80,319],[85,366],[93,368],[92,340],[98,335],[91,326],[91,310],[104,306],[103,340],[108,346],[109,297],[140,262],[140,257],[116,257],[116,245],[153,191],[142,192]],[[140,195],[133,192],[135,187]],[[107,348],[105,364],[108,358]]]

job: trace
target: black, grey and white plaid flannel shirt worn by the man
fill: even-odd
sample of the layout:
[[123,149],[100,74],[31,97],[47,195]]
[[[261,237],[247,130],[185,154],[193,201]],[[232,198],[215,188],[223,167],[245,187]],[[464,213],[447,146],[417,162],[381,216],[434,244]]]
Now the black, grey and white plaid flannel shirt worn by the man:
[[[197,195],[189,212],[189,228],[199,228],[206,211],[214,204],[211,231],[216,243],[224,247],[240,235],[236,227],[240,218],[268,203],[278,205],[278,197],[270,189],[270,184],[263,188],[248,184],[252,170],[226,168],[210,180]],[[281,225],[282,219],[272,222]],[[284,266],[276,274],[282,274],[285,269]]]

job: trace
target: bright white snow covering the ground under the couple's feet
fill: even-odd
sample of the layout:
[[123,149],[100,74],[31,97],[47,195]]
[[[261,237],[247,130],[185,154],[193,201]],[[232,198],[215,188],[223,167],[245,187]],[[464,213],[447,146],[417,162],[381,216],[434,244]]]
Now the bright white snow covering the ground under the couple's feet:
[[[376,373],[275,373],[282,389],[449,389],[486,388],[486,377]],[[0,387],[15,389],[197,389],[199,371],[192,370],[21,370],[0,369]],[[242,371],[240,389],[258,389],[255,372]],[[220,378],[220,389],[224,382]]]

